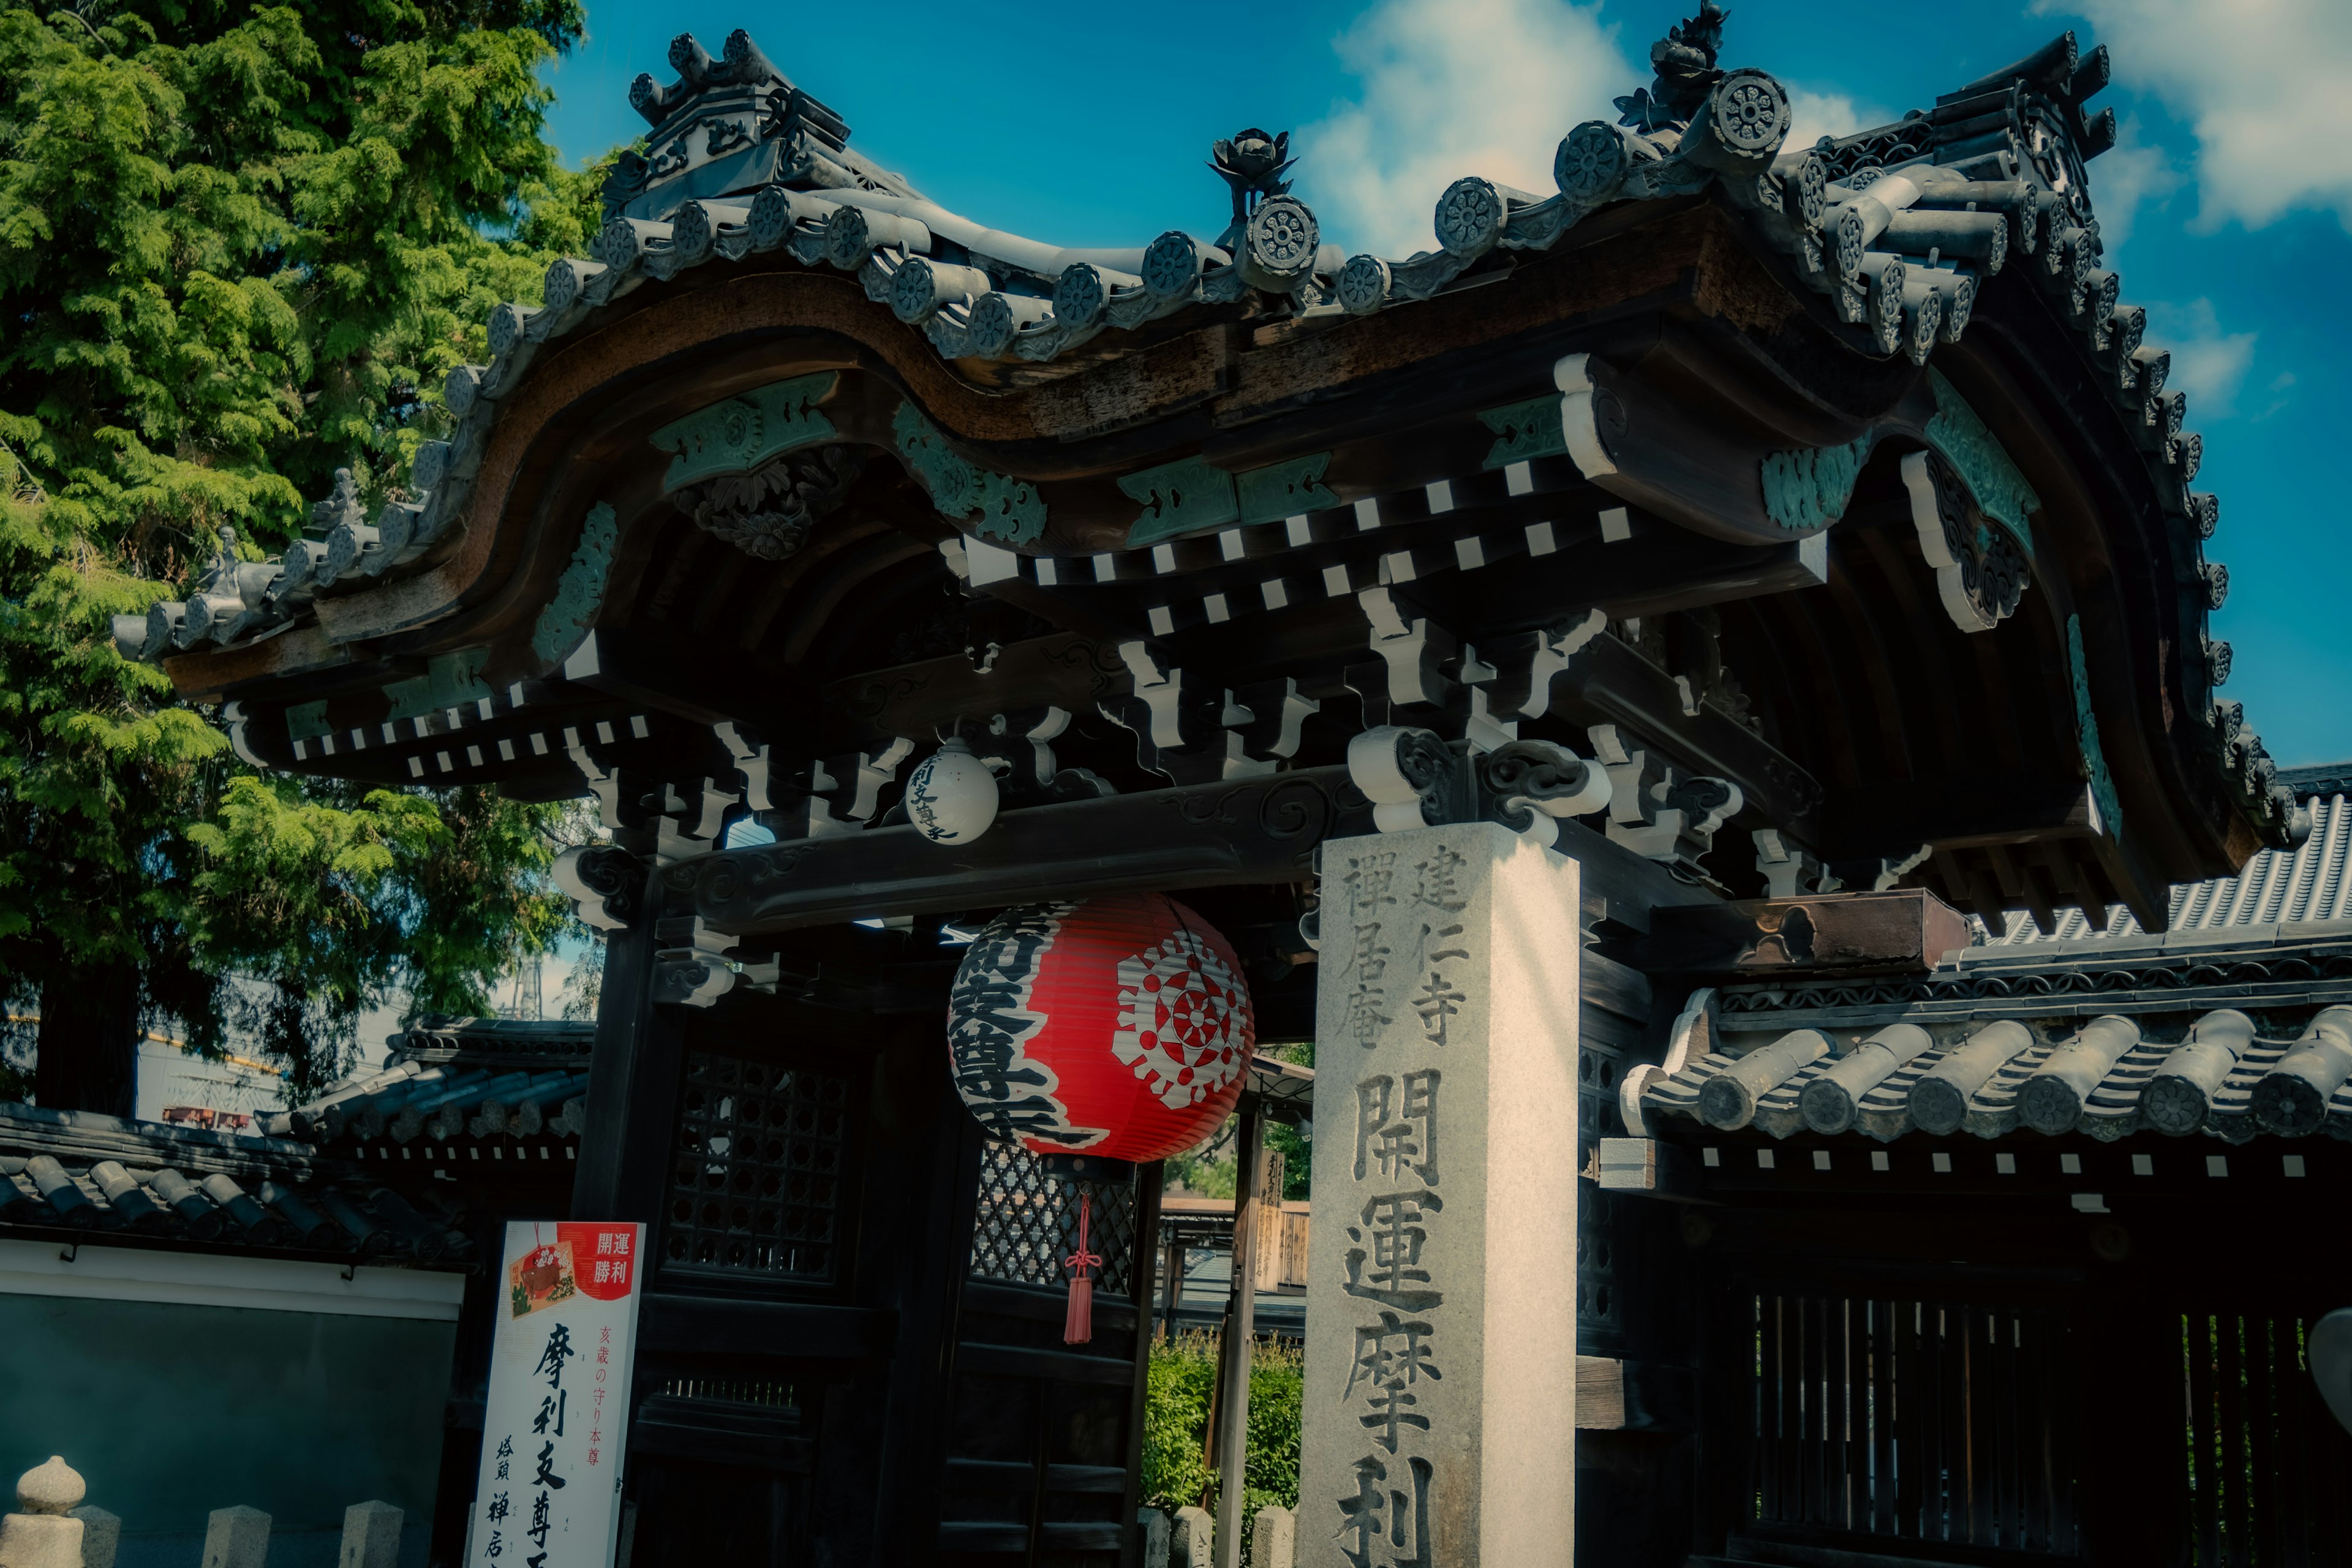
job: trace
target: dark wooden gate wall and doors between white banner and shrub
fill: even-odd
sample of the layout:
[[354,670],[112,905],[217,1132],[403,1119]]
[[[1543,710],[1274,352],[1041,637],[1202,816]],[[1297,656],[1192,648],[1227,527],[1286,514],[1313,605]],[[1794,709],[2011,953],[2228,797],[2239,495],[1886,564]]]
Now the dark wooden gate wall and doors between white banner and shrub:
[[[647,936],[614,938],[574,1194],[574,1213],[647,1222],[656,1258],[630,1568],[1122,1568],[1157,1166],[1101,1194],[1112,1265],[1094,1342],[1065,1347],[1070,1215],[957,1105],[946,997],[656,1006],[649,959]],[[976,1255],[981,1204],[1014,1215],[988,1234],[1037,1234]]]

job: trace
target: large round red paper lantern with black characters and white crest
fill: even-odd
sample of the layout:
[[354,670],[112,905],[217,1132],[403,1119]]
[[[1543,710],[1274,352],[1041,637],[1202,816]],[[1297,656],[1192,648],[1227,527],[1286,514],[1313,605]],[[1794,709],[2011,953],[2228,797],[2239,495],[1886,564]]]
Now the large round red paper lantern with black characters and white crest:
[[1256,1039],[1232,945],[1160,893],[1007,910],[948,994],[957,1093],[1037,1154],[1190,1150],[1232,1114]]

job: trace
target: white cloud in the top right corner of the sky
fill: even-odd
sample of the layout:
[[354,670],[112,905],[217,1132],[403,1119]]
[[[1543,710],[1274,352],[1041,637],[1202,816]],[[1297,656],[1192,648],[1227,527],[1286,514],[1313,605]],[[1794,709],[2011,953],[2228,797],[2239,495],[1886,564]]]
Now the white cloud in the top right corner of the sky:
[[[2039,0],[2034,9],[2089,16],[2117,80],[2190,122],[2199,223],[2260,228],[2305,207],[2352,228],[2352,5]],[[2093,188],[2105,162],[2091,165]]]

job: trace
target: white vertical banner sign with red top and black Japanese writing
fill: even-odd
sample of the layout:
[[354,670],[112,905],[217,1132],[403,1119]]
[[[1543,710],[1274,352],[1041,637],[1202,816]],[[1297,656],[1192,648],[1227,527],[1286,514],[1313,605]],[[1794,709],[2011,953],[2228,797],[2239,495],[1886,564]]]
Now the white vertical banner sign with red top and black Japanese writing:
[[506,1227],[468,1568],[612,1568],[642,1225]]

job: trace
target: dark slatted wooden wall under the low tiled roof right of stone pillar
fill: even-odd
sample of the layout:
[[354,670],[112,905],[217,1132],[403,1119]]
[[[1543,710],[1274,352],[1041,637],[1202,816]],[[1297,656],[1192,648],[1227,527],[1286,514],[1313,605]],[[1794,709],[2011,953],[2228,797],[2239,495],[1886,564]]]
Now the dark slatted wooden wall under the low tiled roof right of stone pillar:
[[1693,1561],[2352,1561],[2303,1363],[2343,1286],[2258,1208],[1691,1211]]

